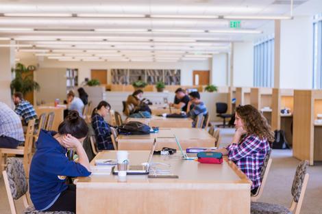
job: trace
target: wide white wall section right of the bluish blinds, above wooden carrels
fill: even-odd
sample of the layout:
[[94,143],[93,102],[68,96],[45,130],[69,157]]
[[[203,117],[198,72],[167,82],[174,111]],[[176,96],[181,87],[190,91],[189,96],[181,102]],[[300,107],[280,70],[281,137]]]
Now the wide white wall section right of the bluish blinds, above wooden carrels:
[[312,88],[312,17],[281,22],[280,88]]

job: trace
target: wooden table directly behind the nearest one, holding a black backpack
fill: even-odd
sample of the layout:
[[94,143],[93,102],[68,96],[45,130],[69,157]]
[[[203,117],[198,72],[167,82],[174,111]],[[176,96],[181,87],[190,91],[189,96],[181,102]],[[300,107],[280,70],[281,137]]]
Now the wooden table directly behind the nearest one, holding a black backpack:
[[216,139],[204,129],[169,128],[160,129],[159,133],[150,135],[119,135],[117,137],[119,150],[150,150],[154,138],[157,137],[156,150],[163,147],[179,149],[175,142],[177,136],[182,149],[188,147],[213,147]]

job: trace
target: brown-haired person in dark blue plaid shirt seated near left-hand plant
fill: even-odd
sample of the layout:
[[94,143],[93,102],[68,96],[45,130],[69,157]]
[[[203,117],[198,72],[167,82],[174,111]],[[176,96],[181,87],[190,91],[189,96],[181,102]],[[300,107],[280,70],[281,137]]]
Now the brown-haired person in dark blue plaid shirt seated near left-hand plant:
[[23,99],[23,94],[21,92],[14,93],[12,100],[14,101],[14,105],[16,105],[14,111],[18,116],[23,118],[23,125],[27,125],[29,120],[37,119],[34,107],[28,101]]

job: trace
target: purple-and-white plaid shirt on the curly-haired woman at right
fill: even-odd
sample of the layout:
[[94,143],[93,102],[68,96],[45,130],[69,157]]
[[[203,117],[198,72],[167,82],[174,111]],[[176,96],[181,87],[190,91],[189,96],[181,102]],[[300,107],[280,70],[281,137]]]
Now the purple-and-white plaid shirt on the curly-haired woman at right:
[[228,159],[234,161],[238,168],[253,182],[251,189],[260,187],[260,170],[265,155],[271,147],[267,139],[260,139],[256,135],[246,135],[240,139],[239,144],[227,146]]

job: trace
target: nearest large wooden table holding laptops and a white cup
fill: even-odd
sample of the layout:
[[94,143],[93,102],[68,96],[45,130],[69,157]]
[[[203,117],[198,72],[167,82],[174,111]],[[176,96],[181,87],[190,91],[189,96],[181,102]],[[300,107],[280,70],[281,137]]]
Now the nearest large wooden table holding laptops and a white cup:
[[[148,151],[130,151],[129,161],[147,161]],[[95,159],[116,159],[116,151],[100,152]],[[91,164],[95,163],[95,159]],[[114,175],[79,178],[77,214],[249,214],[251,181],[231,161],[201,164],[174,156],[153,155],[156,168],[179,178]]]

